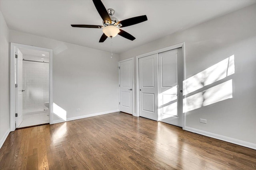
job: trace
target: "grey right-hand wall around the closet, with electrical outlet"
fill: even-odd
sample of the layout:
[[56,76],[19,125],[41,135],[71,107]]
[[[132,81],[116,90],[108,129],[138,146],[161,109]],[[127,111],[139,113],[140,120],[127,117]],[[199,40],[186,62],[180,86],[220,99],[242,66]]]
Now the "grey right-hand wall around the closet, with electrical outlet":
[[[203,92],[212,90],[211,87],[231,80],[232,85],[228,88],[232,88],[232,98],[229,95],[229,99],[208,106],[204,106],[204,102],[201,101],[202,106],[186,112],[186,129],[222,140],[225,138],[226,141],[256,149],[255,18],[256,5],[254,4],[121,53],[119,60],[135,58],[144,53],[185,42],[185,78],[188,79],[234,55],[234,74],[223,77],[222,80],[195,92],[199,92],[202,97]],[[135,69],[134,73],[136,73]],[[134,80],[136,80],[136,74],[134,74]],[[218,87],[212,94],[220,92]],[[197,105],[195,102],[186,105]],[[136,101],[134,105],[136,106]],[[207,119],[207,124],[200,123],[200,118]]]

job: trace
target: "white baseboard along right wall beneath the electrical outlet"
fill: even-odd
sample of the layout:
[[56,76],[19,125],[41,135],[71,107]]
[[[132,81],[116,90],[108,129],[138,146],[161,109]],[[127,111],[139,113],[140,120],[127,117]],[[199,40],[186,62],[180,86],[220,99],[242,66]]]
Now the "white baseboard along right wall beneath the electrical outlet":
[[236,145],[240,145],[240,146],[243,146],[243,147],[247,147],[247,148],[251,148],[251,149],[255,149],[256,150],[256,144],[255,143],[241,141],[239,139],[234,139],[234,138],[231,138],[231,137],[222,136],[222,135],[218,135],[218,134],[215,134],[215,133],[210,133],[210,132],[202,131],[202,130],[199,130],[199,129],[194,129],[194,128],[191,128],[191,127],[185,127],[185,130],[193,132],[193,133],[197,133],[197,134],[200,134],[200,135],[204,135],[204,136],[207,136],[207,137],[219,139],[221,141],[226,141],[226,142],[229,142],[229,143],[234,143]]

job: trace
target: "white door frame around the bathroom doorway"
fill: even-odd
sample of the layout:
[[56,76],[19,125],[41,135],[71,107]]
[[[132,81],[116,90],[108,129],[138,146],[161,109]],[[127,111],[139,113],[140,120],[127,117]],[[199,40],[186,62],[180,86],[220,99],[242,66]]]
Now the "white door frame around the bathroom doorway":
[[15,127],[15,48],[26,48],[32,50],[46,51],[49,53],[49,117],[50,124],[53,124],[52,114],[52,49],[35,47],[18,43],[10,43],[10,131],[14,131]]

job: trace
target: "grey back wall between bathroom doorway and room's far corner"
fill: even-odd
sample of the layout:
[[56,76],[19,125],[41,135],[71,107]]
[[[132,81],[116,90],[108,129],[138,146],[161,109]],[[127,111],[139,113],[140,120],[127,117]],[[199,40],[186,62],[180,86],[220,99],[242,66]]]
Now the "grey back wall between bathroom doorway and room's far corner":
[[53,50],[53,102],[67,120],[118,110],[118,55],[13,30],[10,42]]

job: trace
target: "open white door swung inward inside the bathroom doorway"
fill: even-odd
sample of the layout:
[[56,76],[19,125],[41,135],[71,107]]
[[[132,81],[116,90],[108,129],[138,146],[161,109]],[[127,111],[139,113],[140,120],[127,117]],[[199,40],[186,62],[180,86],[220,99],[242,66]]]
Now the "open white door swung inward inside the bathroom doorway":
[[20,52],[18,48],[16,48],[16,55],[18,55],[18,58],[16,59],[16,84],[18,84],[18,87],[16,88],[16,113],[18,113],[18,117],[16,117],[16,127],[20,126],[20,123],[23,120],[22,115],[22,59],[23,55]]

